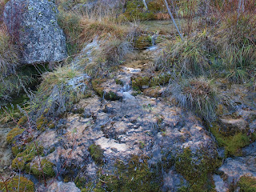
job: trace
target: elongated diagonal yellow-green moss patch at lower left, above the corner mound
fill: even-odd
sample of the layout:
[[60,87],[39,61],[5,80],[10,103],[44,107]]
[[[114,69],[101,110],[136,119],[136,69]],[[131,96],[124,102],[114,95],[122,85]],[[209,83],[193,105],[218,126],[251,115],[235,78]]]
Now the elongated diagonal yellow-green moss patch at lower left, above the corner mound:
[[11,166],[14,170],[24,170],[26,163],[31,162],[36,155],[42,154],[43,147],[38,146],[38,151],[34,144],[26,146],[26,150],[17,154],[16,158],[11,163]]

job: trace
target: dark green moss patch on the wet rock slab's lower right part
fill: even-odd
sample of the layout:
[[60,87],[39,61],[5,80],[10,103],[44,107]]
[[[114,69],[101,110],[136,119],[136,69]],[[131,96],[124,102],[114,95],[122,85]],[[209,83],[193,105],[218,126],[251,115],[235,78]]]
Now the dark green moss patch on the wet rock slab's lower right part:
[[189,191],[206,191],[211,187],[210,174],[221,165],[221,161],[210,159],[203,151],[192,154],[189,147],[175,159],[175,169],[190,182]]

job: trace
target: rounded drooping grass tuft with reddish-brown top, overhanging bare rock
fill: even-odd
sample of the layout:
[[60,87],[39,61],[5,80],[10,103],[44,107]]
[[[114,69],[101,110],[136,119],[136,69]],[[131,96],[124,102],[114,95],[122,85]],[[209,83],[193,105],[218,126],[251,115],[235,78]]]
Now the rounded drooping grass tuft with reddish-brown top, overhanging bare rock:
[[192,110],[206,122],[216,119],[216,110],[221,101],[216,88],[205,78],[182,78],[173,81],[171,92],[178,106]]

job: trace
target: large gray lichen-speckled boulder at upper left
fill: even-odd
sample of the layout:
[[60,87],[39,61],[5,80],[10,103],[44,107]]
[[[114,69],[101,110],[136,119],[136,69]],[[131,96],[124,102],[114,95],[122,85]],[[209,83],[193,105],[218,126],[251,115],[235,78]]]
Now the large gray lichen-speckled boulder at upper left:
[[22,63],[58,62],[66,58],[66,38],[51,0],[10,0],[4,22],[22,46]]

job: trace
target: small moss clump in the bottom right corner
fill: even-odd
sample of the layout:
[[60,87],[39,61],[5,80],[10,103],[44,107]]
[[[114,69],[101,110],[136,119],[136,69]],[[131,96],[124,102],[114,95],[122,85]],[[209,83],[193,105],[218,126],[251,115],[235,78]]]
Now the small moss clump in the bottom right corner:
[[238,182],[240,192],[256,192],[256,178],[242,176]]

